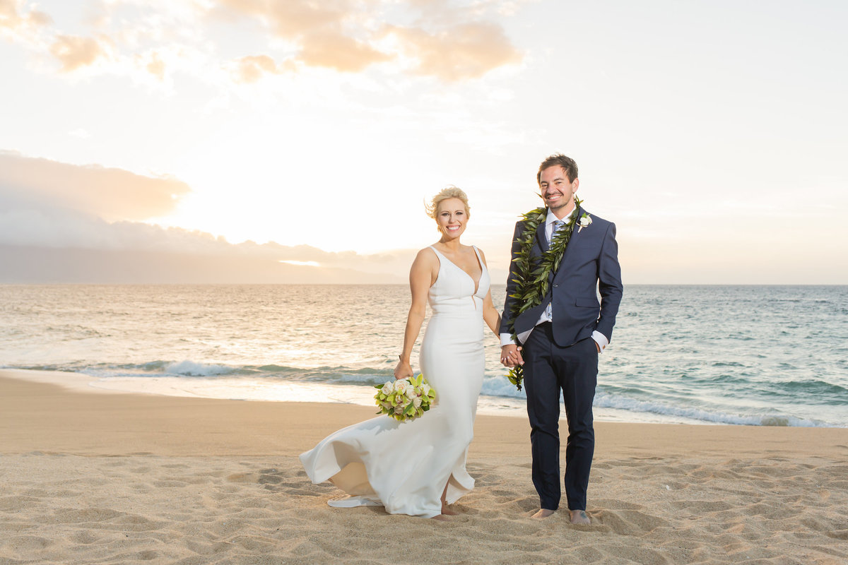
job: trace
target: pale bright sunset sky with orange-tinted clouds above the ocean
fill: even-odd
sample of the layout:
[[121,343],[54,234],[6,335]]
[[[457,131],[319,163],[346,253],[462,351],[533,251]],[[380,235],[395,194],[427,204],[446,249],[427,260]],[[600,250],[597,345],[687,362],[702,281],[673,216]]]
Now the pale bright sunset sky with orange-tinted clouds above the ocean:
[[0,0],[0,246],[403,282],[454,185],[505,282],[564,152],[625,284],[848,284],[846,25],[823,0]]

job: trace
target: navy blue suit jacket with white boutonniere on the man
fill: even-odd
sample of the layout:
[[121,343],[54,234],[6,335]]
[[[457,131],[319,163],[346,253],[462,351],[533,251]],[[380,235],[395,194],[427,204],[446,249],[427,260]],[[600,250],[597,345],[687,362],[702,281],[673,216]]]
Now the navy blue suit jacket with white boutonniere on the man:
[[[587,213],[577,208],[577,218]],[[562,256],[560,268],[553,274],[548,286],[548,294],[542,303],[529,308],[516,318],[516,334],[532,330],[551,303],[553,312],[554,339],[558,346],[570,346],[600,331],[606,339],[612,341],[612,326],[616,324],[618,305],[622,302],[622,269],[618,264],[618,244],[616,243],[616,224],[589,214],[592,223],[584,227],[574,227],[572,237]],[[512,259],[516,258],[519,246],[517,238],[522,235],[525,224],[516,224],[512,238]],[[579,230],[579,231],[578,231]],[[544,235],[544,223],[539,224],[531,258],[538,258],[549,248]],[[512,263],[510,263],[511,265]],[[510,277],[506,282],[506,301],[501,318],[500,333],[510,333],[510,307],[515,298],[510,294],[516,291],[515,276],[510,268]],[[598,301],[600,291],[600,302]]]

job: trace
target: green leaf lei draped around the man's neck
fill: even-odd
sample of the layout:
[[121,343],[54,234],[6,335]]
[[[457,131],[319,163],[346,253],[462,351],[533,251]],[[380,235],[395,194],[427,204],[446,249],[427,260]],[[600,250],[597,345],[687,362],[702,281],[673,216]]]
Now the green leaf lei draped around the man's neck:
[[[574,197],[574,208],[579,208],[581,202],[583,201]],[[510,334],[516,343],[518,338],[516,337],[515,325],[518,314],[538,306],[542,303],[544,296],[548,294],[550,274],[559,269],[562,254],[566,252],[568,240],[572,238],[574,225],[577,224],[577,213],[574,213],[551,238],[548,251],[543,252],[541,258],[533,261],[530,258],[530,251],[533,249],[533,241],[536,239],[536,229],[538,224],[544,223],[547,215],[547,208],[535,208],[523,214],[524,230],[516,239],[520,247],[516,253],[516,258],[512,260],[514,266],[510,273],[513,276],[513,282],[516,283],[515,293],[510,294],[510,298],[515,298],[515,301],[510,305]],[[518,390],[521,391],[524,368],[521,365],[510,368],[506,378],[510,379],[510,383],[516,385]]]

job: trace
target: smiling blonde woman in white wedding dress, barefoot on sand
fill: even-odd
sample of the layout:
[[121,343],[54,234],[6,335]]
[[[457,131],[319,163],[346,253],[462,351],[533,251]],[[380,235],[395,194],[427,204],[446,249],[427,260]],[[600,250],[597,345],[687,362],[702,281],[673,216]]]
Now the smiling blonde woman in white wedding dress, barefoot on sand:
[[410,355],[429,302],[419,363],[436,403],[412,422],[380,416],[340,429],[303,453],[313,483],[329,480],[348,493],[328,501],[332,507],[382,506],[392,514],[449,519],[456,513],[449,505],[474,488],[466,453],[483,385],[483,322],[498,335],[500,314],[483,252],[460,243],[470,217],[466,193],[444,189],[427,213],[441,238],[412,263],[412,304],[394,378],[413,376]]

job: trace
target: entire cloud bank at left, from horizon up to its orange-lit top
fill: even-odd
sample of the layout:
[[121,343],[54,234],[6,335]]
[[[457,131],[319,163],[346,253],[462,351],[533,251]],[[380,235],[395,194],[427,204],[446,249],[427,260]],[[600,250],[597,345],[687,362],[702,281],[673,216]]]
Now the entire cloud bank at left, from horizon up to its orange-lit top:
[[173,178],[0,152],[0,284],[406,280],[412,251],[360,255],[273,242],[232,244],[203,232],[127,221],[165,215],[188,192]]

